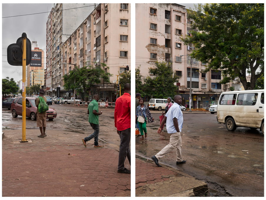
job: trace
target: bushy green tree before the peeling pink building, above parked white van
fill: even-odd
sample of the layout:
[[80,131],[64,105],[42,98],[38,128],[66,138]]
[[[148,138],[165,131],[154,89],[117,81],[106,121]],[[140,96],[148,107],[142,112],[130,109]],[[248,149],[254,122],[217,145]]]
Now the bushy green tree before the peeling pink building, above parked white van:
[[171,63],[156,62],[155,68],[149,71],[153,73],[154,78],[148,76],[144,79],[147,96],[167,98],[177,94],[177,86],[174,83],[178,82],[178,76],[172,71]]

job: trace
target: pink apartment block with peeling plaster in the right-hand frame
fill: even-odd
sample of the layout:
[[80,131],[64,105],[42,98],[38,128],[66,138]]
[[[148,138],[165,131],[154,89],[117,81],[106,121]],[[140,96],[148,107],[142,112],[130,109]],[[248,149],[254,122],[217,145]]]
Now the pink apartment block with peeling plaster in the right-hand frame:
[[144,78],[152,77],[149,69],[155,67],[156,61],[171,62],[179,76],[176,84],[184,104],[189,104],[191,79],[192,107],[205,108],[217,102],[226,89],[222,90],[219,83],[221,71],[202,73],[205,63],[190,57],[194,46],[182,43],[182,36],[191,35],[191,23],[187,9],[180,4],[136,4],[136,68],[140,67]]

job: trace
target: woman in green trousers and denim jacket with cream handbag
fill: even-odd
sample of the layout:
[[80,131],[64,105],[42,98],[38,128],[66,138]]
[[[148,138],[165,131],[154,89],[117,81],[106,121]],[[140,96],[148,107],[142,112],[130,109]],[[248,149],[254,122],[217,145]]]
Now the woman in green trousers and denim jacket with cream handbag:
[[153,122],[152,114],[150,113],[148,106],[144,104],[144,99],[139,99],[139,106],[137,106],[135,118],[139,124],[139,131],[142,136],[139,140],[143,140],[144,134],[145,138],[147,137],[146,124]]

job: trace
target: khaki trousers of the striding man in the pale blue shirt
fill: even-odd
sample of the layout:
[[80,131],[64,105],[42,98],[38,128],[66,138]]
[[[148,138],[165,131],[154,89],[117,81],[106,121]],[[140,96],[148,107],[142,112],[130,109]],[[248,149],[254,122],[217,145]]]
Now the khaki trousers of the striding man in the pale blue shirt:
[[169,144],[166,145],[159,153],[157,153],[155,157],[159,160],[173,149],[176,149],[177,162],[181,162],[182,161],[181,147],[182,147],[182,139],[180,132],[171,133]]

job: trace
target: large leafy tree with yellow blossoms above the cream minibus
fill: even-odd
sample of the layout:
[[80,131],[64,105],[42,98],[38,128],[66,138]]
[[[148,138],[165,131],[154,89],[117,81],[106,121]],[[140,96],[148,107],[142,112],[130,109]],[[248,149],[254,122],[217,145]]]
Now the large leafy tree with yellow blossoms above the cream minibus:
[[222,69],[222,84],[239,77],[245,90],[253,89],[264,72],[264,4],[200,4],[188,17],[199,32],[182,41],[195,45],[193,58],[208,63],[203,72]]

